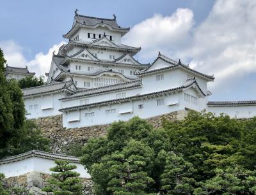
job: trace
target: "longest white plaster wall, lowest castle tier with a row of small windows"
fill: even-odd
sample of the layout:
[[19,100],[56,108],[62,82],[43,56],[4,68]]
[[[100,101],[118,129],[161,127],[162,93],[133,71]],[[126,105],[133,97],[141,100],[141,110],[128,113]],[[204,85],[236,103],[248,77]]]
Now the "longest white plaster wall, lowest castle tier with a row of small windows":
[[[157,106],[157,99],[164,99],[164,105]],[[177,105],[167,105],[172,99],[177,99]],[[201,101],[199,101],[197,106],[194,105],[185,105],[184,104],[184,93],[179,92],[175,94],[170,94],[168,96],[159,96],[157,98],[145,99],[145,100],[136,100],[128,102],[132,107],[132,113],[122,113],[120,110],[127,106],[127,103],[116,103],[109,106],[100,106],[98,108],[84,109],[76,112],[80,112],[80,120],[76,122],[67,122],[68,113],[63,113],[63,126],[68,128],[73,127],[84,127],[84,126],[93,126],[100,124],[110,124],[118,120],[129,120],[134,116],[139,116],[142,119],[147,119],[149,117],[155,117],[157,115],[163,115],[164,113],[170,113],[177,110],[184,110],[185,106],[193,110],[200,111]],[[143,109],[139,109],[138,105],[143,104]],[[106,114],[106,110],[116,109],[115,113]],[[85,117],[85,113],[93,112],[93,117]]]

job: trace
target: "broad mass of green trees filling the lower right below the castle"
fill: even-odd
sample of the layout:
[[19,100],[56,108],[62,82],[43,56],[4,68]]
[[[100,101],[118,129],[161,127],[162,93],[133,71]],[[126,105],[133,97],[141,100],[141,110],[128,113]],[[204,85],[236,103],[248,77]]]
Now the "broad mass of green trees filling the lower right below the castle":
[[256,117],[190,112],[154,129],[134,117],[83,147],[97,194],[254,194]]

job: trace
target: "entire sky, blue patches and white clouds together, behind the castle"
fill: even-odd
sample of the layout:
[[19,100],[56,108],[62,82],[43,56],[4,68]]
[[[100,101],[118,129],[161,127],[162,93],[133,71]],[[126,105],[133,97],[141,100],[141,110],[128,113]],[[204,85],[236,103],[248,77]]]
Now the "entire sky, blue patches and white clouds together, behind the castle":
[[152,62],[158,51],[215,76],[211,100],[256,99],[256,1],[0,0],[0,47],[10,66],[49,71],[52,52],[67,42],[74,10],[131,27],[123,41]]

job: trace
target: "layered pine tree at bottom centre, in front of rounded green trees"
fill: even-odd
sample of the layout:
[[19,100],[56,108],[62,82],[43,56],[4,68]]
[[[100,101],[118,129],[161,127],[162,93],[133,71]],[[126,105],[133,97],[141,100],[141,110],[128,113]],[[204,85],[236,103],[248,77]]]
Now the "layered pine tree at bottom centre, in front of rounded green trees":
[[152,168],[154,150],[140,141],[131,140],[122,152],[104,157],[109,164],[108,191],[113,194],[146,194],[147,184],[154,182],[148,177]]

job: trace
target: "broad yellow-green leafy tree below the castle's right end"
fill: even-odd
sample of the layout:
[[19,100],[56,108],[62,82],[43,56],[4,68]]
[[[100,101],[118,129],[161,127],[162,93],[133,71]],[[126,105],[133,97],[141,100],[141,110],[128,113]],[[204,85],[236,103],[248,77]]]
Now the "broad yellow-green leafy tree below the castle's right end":
[[163,127],[171,139],[173,152],[184,155],[184,159],[193,164],[198,182],[213,177],[216,168],[237,163],[234,155],[241,145],[244,128],[239,120],[189,112],[184,120],[164,120]]

